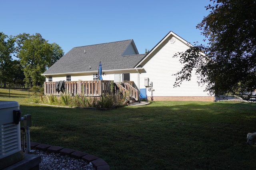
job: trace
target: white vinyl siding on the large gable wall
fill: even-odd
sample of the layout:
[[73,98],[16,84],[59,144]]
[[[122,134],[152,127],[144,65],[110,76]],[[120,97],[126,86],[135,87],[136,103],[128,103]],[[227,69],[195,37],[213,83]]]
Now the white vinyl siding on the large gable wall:
[[[180,71],[182,65],[180,58],[173,56],[175,53],[186,51],[188,46],[178,39],[175,43],[170,43],[169,39],[158,47],[157,53],[153,53],[144,61],[145,72],[140,74],[140,88],[145,88],[144,78],[147,77],[153,84],[153,96],[208,96],[207,92],[204,92],[205,87],[198,86],[196,75],[192,76],[190,81],[182,82],[180,87],[174,88],[176,76],[173,74]],[[151,96],[151,92],[148,94]]]

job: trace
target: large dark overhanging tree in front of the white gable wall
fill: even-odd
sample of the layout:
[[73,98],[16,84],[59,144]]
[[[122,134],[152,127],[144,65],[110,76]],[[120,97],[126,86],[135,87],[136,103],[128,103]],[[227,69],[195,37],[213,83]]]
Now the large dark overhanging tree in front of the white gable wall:
[[[196,27],[208,45],[177,53],[184,64],[174,86],[190,80],[192,70],[210,94],[233,95],[256,89],[256,1],[210,0],[210,14]],[[202,55],[202,53],[206,55]]]

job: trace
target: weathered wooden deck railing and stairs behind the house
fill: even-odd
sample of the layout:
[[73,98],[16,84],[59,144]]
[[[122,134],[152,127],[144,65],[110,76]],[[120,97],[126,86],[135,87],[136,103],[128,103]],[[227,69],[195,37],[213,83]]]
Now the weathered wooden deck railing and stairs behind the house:
[[[91,80],[91,81],[64,81],[64,92],[56,91],[56,82],[44,82],[44,95],[83,95],[83,96],[102,96],[111,94],[111,80]],[[121,84],[114,83],[114,92],[118,90],[123,94],[129,92],[130,97],[138,101],[138,90],[133,86],[133,81],[125,81]]]

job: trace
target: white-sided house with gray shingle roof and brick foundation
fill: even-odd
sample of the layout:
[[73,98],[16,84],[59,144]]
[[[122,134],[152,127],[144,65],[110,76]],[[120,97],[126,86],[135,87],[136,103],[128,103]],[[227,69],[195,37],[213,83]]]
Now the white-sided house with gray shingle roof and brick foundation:
[[214,101],[214,96],[198,86],[197,76],[174,88],[177,73],[182,69],[174,54],[191,47],[170,31],[149,53],[139,54],[132,39],[74,47],[42,75],[46,82],[98,80],[99,63],[103,80],[130,81],[136,90],[145,89],[148,100]]

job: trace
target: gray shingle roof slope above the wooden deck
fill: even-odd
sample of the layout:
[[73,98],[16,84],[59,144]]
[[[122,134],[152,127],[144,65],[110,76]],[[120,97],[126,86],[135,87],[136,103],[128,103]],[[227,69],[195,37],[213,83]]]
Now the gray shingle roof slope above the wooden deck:
[[[96,71],[100,62],[102,70],[134,68],[146,54],[122,56],[131,43],[134,44],[132,39],[74,47],[43,74]],[[135,45],[134,48],[137,51]]]

